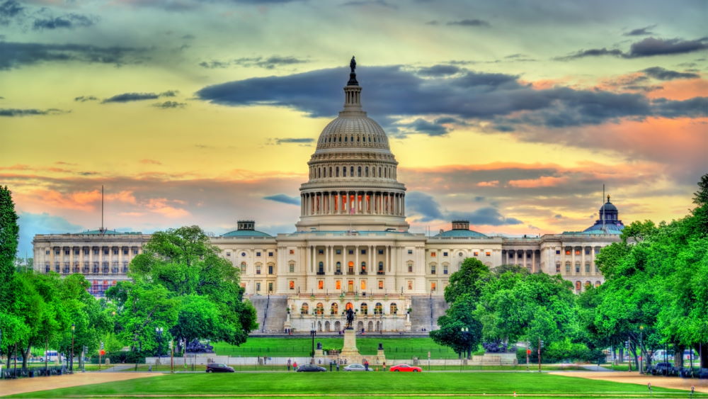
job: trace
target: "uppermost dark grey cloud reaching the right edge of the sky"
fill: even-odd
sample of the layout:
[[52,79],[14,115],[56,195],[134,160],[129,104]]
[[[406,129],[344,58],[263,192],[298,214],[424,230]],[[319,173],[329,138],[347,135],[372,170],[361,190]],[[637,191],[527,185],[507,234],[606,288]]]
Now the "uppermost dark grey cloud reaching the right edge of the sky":
[[696,40],[683,39],[656,39],[646,38],[629,46],[629,52],[619,49],[607,50],[606,48],[580,50],[565,57],[557,57],[556,60],[574,60],[583,57],[598,57],[601,55],[612,55],[622,58],[651,57],[654,55],[675,55],[696,52],[708,49],[708,37]]

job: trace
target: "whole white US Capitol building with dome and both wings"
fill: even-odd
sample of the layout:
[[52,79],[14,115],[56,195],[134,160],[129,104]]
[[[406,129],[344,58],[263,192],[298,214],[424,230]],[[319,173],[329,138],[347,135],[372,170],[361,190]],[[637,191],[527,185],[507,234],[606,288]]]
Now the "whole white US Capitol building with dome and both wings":
[[[490,268],[515,264],[560,274],[578,293],[603,283],[595,255],[619,241],[623,227],[609,196],[600,220],[582,232],[492,237],[470,230],[466,220],[433,237],[409,232],[398,162],[384,130],[362,110],[361,94],[352,62],[343,110],[322,130],[307,163],[295,232],[273,237],[239,220],[237,230],[211,239],[241,271],[259,332],[337,332],[348,307],[357,311],[357,330],[433,330],[447,307],[448,278],[468,257]],[[128,279],[130,260],[149,239],[103,228],[36,235],[35,271],[84,274],[89,291],[103,296]]]

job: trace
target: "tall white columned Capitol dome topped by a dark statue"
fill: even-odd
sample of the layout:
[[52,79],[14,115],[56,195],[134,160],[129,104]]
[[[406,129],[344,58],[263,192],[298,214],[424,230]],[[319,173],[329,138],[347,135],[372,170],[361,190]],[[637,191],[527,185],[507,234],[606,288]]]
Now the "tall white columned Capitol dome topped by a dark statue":
[[322,130],[307,162],[298,231],[408,230],[398,162],[386,132],[362,108],[355,67],[352,57],[343,110]]

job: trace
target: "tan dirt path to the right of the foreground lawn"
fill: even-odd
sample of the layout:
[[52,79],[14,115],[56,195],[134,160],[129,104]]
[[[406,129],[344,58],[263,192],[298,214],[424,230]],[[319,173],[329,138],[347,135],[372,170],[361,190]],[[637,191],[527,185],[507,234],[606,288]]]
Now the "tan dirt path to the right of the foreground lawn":
[[549,374],[588,378],[590,380],[615,381],[618,383],[636,383],[644,386],[646,386],[647,383],[651,383],[651,386],[685,390],[691,390],[691,386],[695,386],[696,392],[708,393],[708,380],[697,380],[695,378],[652,376],[651,374],[643,375],[625,371],[550,372]]

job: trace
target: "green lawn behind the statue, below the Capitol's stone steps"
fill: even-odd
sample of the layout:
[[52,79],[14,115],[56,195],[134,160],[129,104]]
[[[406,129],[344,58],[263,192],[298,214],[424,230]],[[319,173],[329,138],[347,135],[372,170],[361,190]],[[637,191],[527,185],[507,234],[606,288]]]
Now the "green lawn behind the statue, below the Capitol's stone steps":
[[[315,344],[322,343],[324,349],[341,349],[344,337],[315,337]],[[457,359],[457,354],[449,347],[441,347],[430,338],[411,337],[357,337],[357,347],[361,354],[376,354],[379,342],[384,345],[386,356],[390,359],[409,359],[417,356],[428,359],[428,352],[433,359]],[[312,350],[312,338],[269,338],[249,337],[248,341],[236,347],[224,342],[213,344],[219,355],[229,356],[309,356]]]

